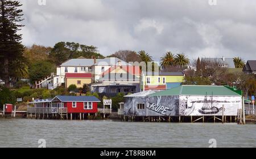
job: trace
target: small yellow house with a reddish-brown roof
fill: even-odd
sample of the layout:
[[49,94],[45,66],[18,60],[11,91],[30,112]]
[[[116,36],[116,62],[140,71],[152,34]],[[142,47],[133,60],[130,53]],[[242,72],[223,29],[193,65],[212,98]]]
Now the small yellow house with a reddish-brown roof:
[[89,73],[66,73],[65,74],[65,87],[75,84],[77,88],[82,88],[84,84],[92,83],[92,74]]

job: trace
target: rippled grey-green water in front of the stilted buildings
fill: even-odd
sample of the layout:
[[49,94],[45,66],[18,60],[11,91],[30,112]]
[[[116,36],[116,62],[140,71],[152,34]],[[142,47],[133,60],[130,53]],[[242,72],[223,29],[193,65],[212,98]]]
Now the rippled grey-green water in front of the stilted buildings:
[[256,147],[256,124],[0,119],[0,147]]

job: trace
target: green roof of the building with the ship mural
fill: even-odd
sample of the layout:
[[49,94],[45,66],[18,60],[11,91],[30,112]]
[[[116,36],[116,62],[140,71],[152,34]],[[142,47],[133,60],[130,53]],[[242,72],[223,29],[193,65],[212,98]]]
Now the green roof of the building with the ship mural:
[[179,87],[152,93],[148,96],[205,96],[205,94],[213,96],[241,96],[240,94],[233,92],[224,86],[216,85],[180,85]]

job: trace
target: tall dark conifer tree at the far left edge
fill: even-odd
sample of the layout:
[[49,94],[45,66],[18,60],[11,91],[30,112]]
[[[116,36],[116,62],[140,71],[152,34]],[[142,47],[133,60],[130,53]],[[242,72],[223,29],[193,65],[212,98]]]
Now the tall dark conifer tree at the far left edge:
[[13,70],[23,64],[20,61],[24,61],[22,35],[17,33],[23,27],[20,24],[23,20],[20,6],[18,1],[0,1],[0,76],[6,87],[10,87],[10,78],[16,76]]

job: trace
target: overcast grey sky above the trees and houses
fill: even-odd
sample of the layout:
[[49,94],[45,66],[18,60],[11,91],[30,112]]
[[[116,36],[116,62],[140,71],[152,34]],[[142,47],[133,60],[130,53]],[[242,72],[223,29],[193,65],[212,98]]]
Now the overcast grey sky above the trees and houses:
[[[42,0],[43,1],[43,0]],[[256,1],[22,0],[23,44],[59,41],[94,45],[103,55],[146,50],[156,61],[166,52],[189,58],[256,59]]]

